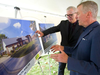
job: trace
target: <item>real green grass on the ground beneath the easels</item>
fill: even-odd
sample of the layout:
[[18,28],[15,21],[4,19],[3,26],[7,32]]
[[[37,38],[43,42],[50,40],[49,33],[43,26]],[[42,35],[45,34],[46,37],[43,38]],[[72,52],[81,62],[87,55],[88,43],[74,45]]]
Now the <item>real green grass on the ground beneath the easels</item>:
[[[48,55],[39,59],[40,65],[42,67],[43,73],[41,72],[38,62],[29,70],[27,75],[58,75],[58,62],[50,58],[50,69],[49,69],[49,58]],[[50,74],[51,71],[51,74]],[[69,71],[65,69],[64,75],[69,75]]]

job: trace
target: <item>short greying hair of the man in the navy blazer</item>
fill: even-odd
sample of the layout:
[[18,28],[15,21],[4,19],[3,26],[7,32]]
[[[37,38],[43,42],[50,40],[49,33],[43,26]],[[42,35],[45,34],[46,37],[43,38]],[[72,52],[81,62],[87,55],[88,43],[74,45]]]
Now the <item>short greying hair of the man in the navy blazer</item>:
[[98,5],[94,1],[85,1],[80,3],[77,7],[82,5],[82,11],[83,13],[86,13],[88,11],[92,12],[93,18],[96,19],[97,13],[98,13]]

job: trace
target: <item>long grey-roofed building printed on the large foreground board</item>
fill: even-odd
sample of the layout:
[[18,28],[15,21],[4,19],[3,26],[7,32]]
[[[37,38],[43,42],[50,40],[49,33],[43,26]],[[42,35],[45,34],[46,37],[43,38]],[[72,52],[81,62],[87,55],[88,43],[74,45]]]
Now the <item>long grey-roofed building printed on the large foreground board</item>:
[[31,36],[27,35],[18,38],[2,39],[2,44],[3,44],[4,52],[10,55],[11,51],[14,52],[16,48],[23,46],[24,44],[29,43],[31,41],[32,41]]

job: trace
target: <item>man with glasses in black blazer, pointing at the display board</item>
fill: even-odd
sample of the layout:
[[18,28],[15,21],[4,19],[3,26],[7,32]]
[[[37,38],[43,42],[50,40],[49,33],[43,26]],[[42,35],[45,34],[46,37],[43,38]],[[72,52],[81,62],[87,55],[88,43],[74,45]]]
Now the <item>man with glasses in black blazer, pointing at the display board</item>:
[[[54,32],[61,33],[61,45],[73,47],[77,43],[80,34],[83,32],[83,27],[79,26],[76,14],[76,8],[70,6],[67,8],[66,17],[68,20],[63,20],[55,27],[51,27],[43,32],[36,31],[40,34],[40,37]],[[66,63],[59,63],[58,75],[64,75]]]

